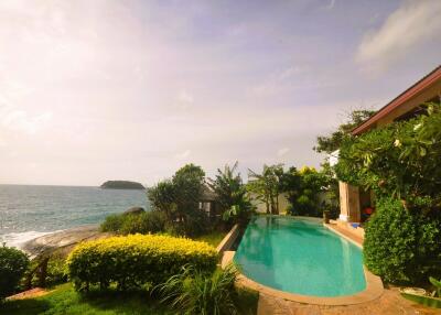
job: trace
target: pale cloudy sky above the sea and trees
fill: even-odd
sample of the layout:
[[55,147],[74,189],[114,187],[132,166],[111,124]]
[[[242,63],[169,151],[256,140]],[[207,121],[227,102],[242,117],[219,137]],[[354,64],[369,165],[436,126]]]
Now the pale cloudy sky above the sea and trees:
[[319,166],[441,64],[441,1],[0,1],[0,184]]

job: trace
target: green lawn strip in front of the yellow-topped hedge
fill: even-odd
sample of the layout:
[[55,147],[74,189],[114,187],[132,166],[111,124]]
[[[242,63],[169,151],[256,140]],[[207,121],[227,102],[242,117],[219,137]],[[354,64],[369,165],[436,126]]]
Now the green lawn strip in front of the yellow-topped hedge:
[[55,287],[54,292],[36,298],[6,302],[0,305],[0,314],[72,314],[72,315],[116,315],[116,314],[174,314],[152,301],[148,293],[93,292],[87,296],[77,294],[69,283]]

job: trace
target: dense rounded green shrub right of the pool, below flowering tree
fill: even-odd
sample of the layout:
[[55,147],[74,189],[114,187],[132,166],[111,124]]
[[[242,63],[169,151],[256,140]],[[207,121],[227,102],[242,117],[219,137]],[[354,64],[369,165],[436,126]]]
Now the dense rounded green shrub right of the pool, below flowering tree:
[[441,276],[441,211],[406,209],[383,198],[367,224],[366,267],[390,283],[419,283]]

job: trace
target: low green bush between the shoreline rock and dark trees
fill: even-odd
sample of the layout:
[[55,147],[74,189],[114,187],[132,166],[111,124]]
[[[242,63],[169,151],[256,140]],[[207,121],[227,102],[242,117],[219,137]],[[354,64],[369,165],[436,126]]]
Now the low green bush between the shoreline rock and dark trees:
[[121,235],[155,233],[165,230],[166,217],[161,211],[111,215],[101,224],[101,231]]

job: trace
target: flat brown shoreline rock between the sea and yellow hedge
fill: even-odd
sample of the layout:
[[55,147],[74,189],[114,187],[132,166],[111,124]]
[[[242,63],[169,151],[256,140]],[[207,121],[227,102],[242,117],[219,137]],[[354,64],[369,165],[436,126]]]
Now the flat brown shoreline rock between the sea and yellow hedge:
[[45,235],[33,240],[26,241],[21,249],[35,258],[42,254],[51,254],[57,251],[67,256],[79,242],[86,240],[100,239],[111,236],[99,231],[99,226],[89,225]]

